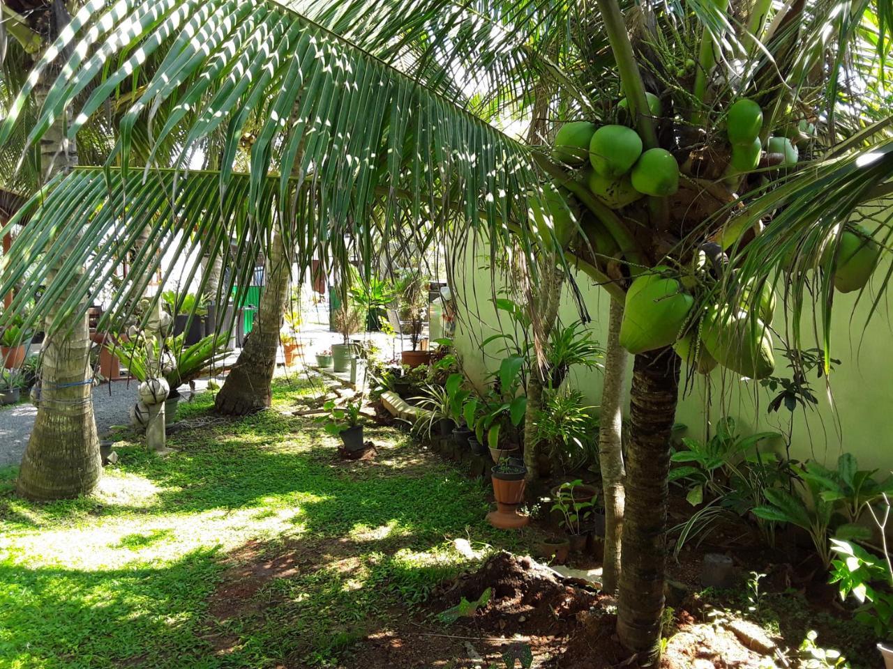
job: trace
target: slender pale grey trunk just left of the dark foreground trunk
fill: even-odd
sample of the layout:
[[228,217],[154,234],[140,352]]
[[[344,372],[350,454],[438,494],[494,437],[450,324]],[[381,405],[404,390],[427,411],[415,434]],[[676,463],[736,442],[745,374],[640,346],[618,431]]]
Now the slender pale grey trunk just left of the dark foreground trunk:
[[598,426],[598,459],[605,492],[605,557],[602,560],[602,589],[617,591],[621,571],[621,536],[625,495],[622,429],[623,386],[629,354],[620,345],[623,305],[611,300],[608,339],[605,349],[605,383],[602,387]]

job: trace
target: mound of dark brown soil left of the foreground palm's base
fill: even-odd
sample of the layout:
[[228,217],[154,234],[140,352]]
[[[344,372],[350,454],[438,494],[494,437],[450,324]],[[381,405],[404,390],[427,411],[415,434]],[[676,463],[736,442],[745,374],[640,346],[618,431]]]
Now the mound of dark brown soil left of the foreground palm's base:
[[594,607],[599,599],[595,591],[568,582],[529,557],[501,552],[478,571],[455,581],[431,602],[431,607],[442,611],[462,599],[476,601],[488,588],[489,601],[475,613],[474,623],[493,632],[566,634],[568,625],[577,624],[578,615]]

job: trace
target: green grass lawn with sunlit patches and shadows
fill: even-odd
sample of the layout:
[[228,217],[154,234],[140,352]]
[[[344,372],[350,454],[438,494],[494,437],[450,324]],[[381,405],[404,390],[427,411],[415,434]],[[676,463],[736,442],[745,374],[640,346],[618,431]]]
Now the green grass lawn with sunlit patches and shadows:
[[[484,521],[486,490],[374,429],[377,458],[342,464],[307,392],[278,383],[273,410],[200,425],[156,458],[134,441],[88,498],[31,504],[0,470],[0,666],[335,665],[468,566],[451,540],[512,537]],[[278,410],[277,410],[278,409]],[[368,438],[368,437],[367,437]]]

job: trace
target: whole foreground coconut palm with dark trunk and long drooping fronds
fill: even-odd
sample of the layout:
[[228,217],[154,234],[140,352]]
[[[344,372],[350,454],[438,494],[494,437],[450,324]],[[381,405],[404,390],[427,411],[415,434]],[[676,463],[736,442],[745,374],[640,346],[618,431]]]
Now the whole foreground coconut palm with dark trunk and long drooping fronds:
[[[883,219],[869,231],[876,242],[843,224],[866,202],[893,192],[888,101],[878,83],[887,69],[889,3],[315,0],[296,6],[300,11],[237,0],[88,3],[59,43],[78,48],[47,95],[42,118],[58,116],[92,85],[69,128],[76,133],[144,59],[157,52],[161,63],[122,117],[115,153],[121,168],[78,169],[54,182],[45,201],[26,207],[32,223],[11,259],[43,249],[46,230],[71,237],[71,201],[84,202],[91,234],[114,231],[121,238],[145,225],[139,212],[149,203],[170,202],[171,214],[155,224],[154,248],[168,244],[183,217],[208,220],[213,234],[206,244],[229,244],[225,235],[241,231],[259,249],[279,230],[302,269],[313,252],[346,260],[350,250],[370,258],[400,234],[401,220],[410,227],[424,221],[454,243],[485,235],[494,253],[520,240],[531,256],[544,237],[554,243],[550,250],[561,250],[572,226],[558,262],[586,272],[625,303],[614,334],[636,353],[618,633],[641,665],[654,664],[669,436],[681,368],[671,344],[689,338],[692,368],[703,349],[725,353],[722,362],[742,374],[748,355],[751,368],[756,358],[768,364],[771,352],[760,348],[768,341],[764,324],[747,315],[761,306],[763,291],[755,288],[783,281],[795,324],[785,333],[787,344],[799,343],[801,313],[808,296],[817,295],[827,350],[835,289],[860,289],[859,279],[876,260],[874,244],[888,236]],[[119,66],[101,67],[117,54]],[[456,83],[467,72],[480,84],[472,91]],[[631,187],[616,183],[624,171],[617,163],[636,143],[625,130],[607,133],[605,146],[617,151],[587,136],[576,147],[580,155],[573,143],[553,155],[552,147],[497,131],[505,113],[530,113],[536,106],[530,92],[543,81],[555,91],[547,106],[551,119],[635,128],[638,153],[644,148],[648,157],[633,155],[626,165],[635,163]],[[732,113],[741,99],[753,103],[745,105],[750,111]],[[132,169],[132,124],[161,109],[171,113],[153,141],[180,128],[181,157],[173,171]],[[230,165],[249,121],[262,130],[246,176]],[[186,158],[224,123],[221,170],[210,176],[184,171]],[[13,113],[0,139],[14,128]],[[29,140],[43,131],[38,125]],[[618,144],[621,136],[629,145]],[[587,159],[592,169],[618,174],[597,172],[599,183],[585,169]],[[553,196],[555,186],[566,191],[576,222],[567,222],[564,206],[556,207],[540,185]],[[530,226],[531,191],[538,208],[551,210],[555,225],[545,232]],[[125,202],[128,216],[121,217]],[[865,249],[869,261],[854,260]],[[47,255],[35,268],[42,278],[54,254]],[[69,261],[84,260],[75,255]],[[700,261],[705,256],[709,263]],[[79,279],[65,301],[70,310],[90,293],[105,260],[99,252]],[[234,260],[246,267],[244,258]],[[527,264],[533,272],[534,260]],[[16,278],[10,268],[14,262],[0,290]],[[880,277],[879,294],[888,277]],[[49,290],[58,283],[51,281]],[[637,285],[633,295],[655,285],[664,293],[636,301],[627,295],[631,285]],[[643,344],[642,337],[654,335],[645,327],[653,323],[643,326],[635,317],[655,305],[678,312],[678,303],[686,305],[685,313],[672,314],[678,326],[663,324],[660,341],[652,336]],[[637,345],[630,343],[639,335]]]

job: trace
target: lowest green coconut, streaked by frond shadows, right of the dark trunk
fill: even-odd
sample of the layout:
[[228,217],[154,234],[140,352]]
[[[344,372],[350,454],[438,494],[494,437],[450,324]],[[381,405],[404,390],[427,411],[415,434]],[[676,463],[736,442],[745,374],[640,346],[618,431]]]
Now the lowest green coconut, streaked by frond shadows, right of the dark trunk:
[[701,340],[722,367],[741,376],[761,379],[775,371],[769,327],[746,310],[712,307],[704,317]]

